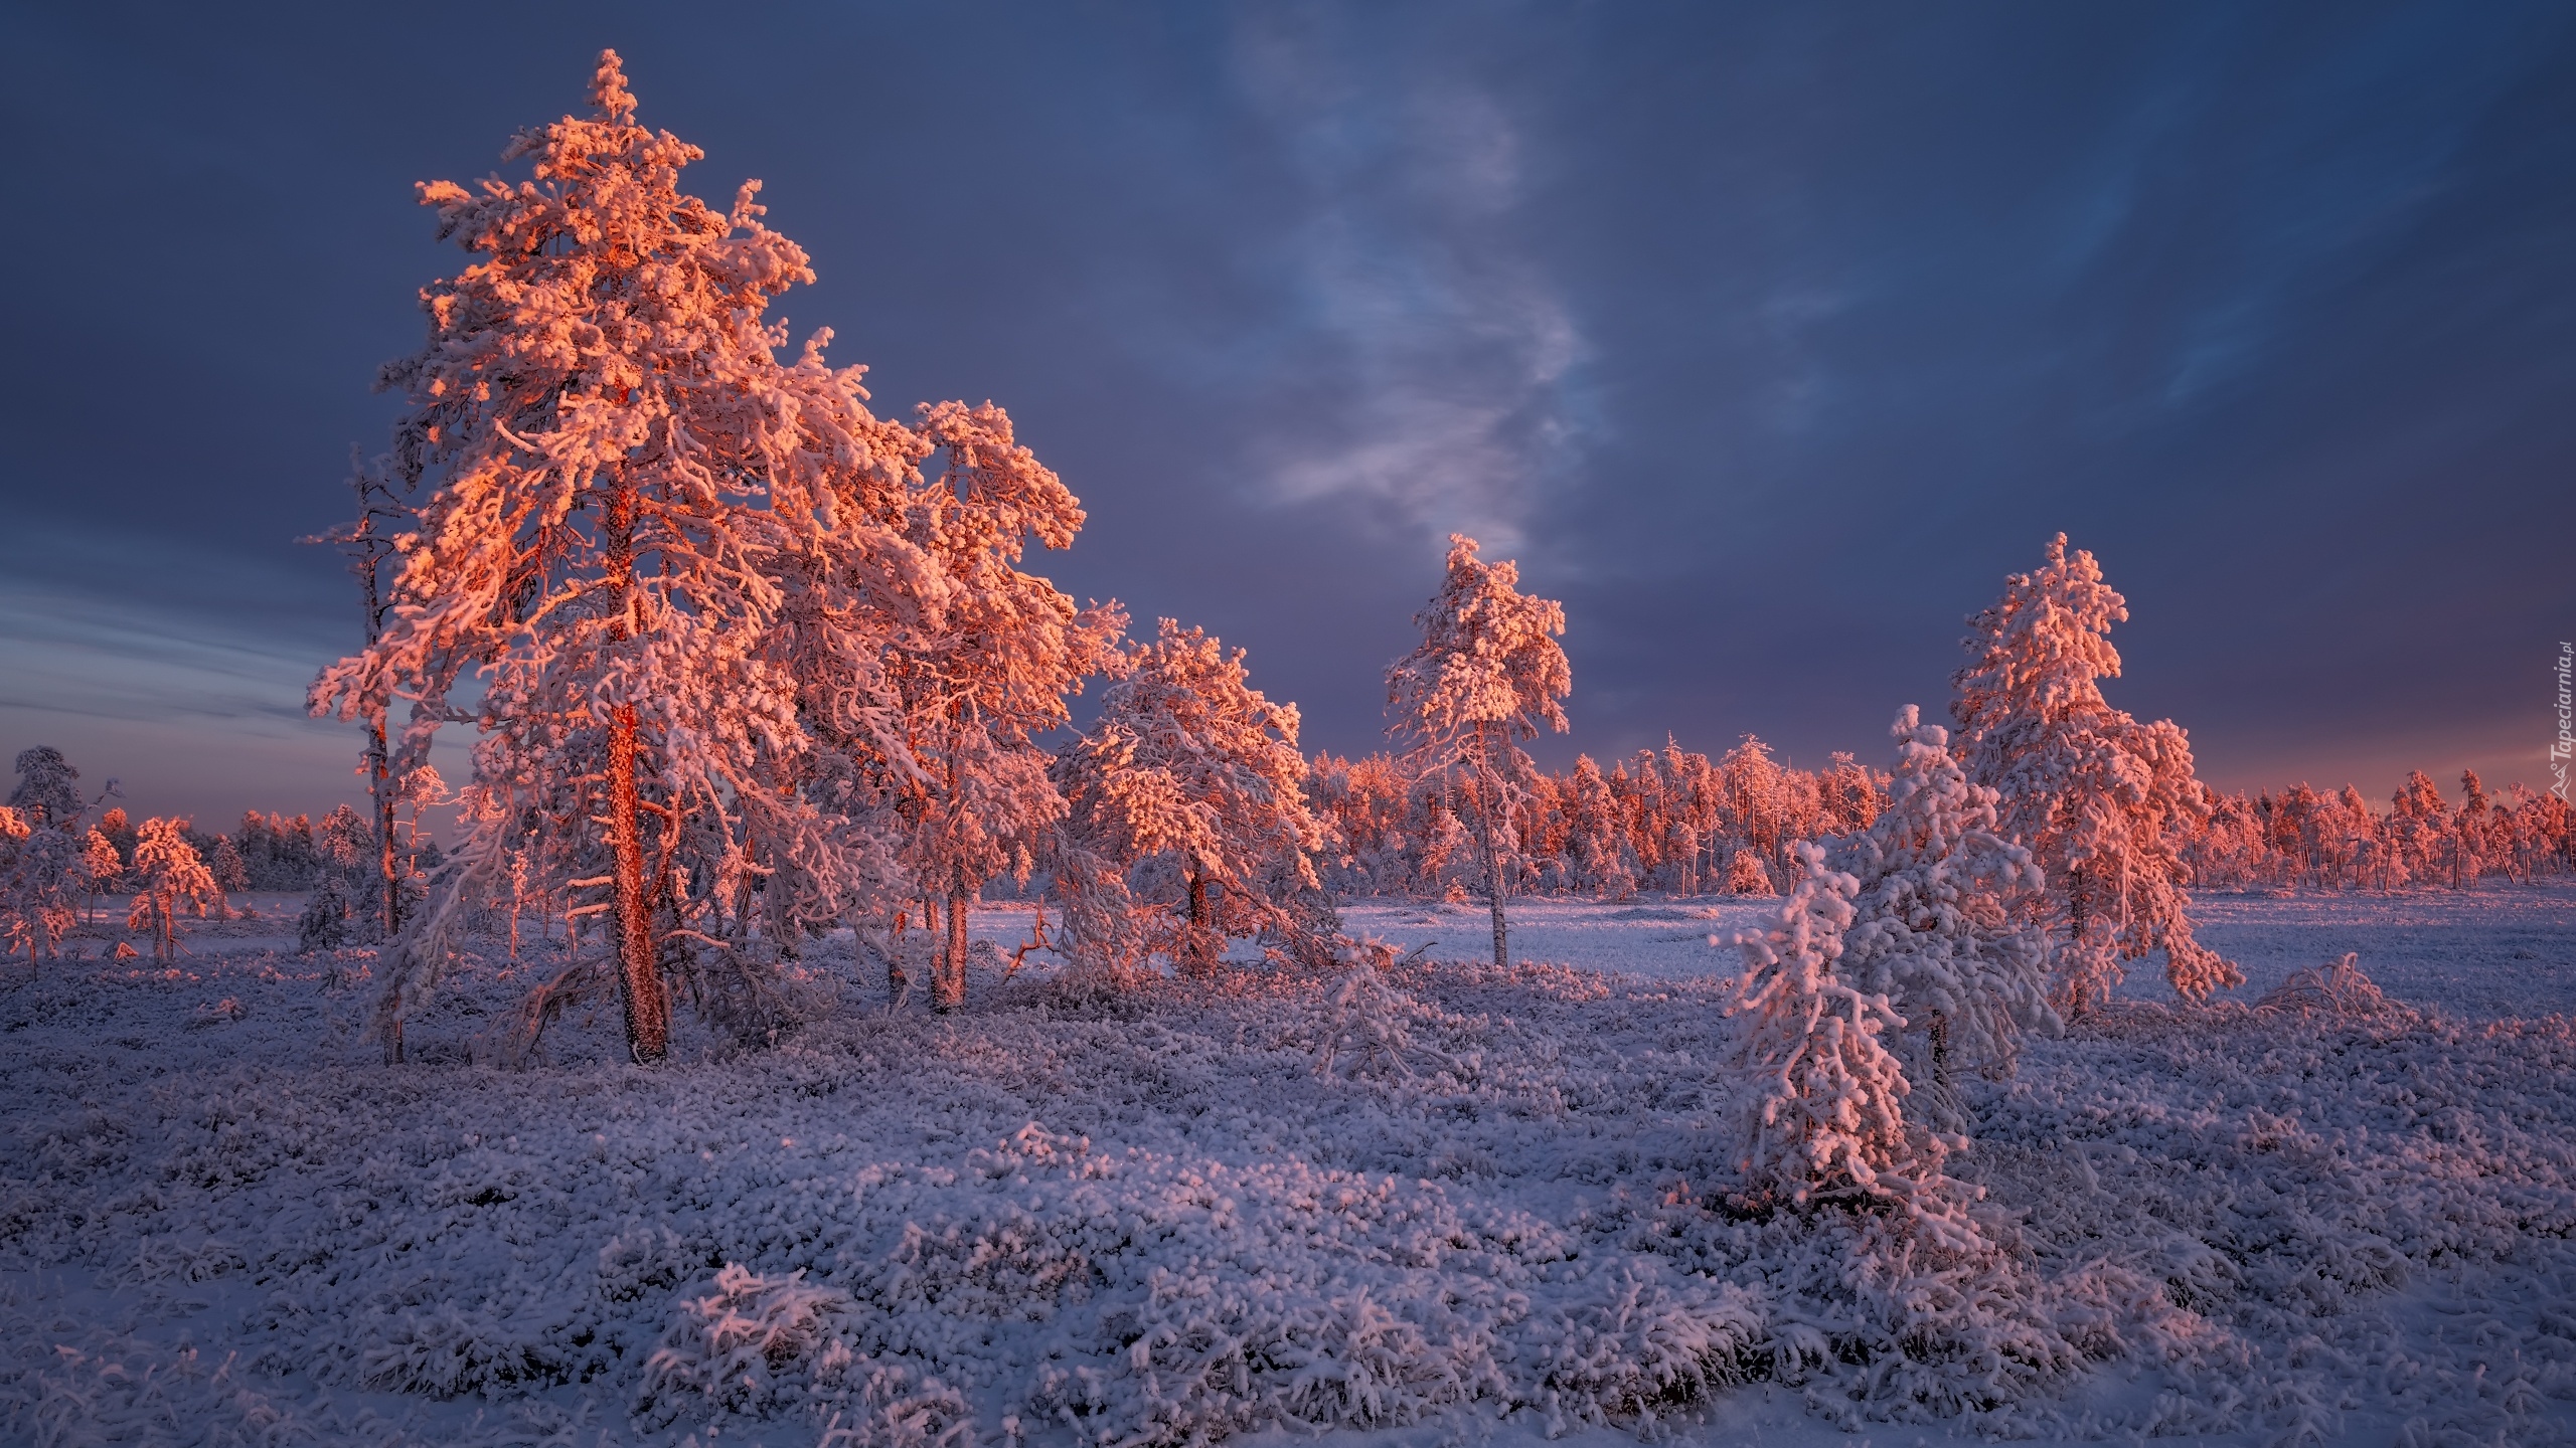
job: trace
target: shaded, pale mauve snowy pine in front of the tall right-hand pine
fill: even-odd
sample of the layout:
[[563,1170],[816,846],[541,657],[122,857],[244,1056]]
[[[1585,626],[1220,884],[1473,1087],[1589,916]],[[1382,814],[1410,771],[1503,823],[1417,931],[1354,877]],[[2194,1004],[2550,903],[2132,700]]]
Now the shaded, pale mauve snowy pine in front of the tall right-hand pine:
[[1837,974],[1906,1018],[1909,1077],[1947,1085],[1955,1064],[2009,1074],[2025,1031],[2056,1031],[2048,943],[2014,920],[2043,876],[1994,832],[1991,788],[1968,783],[1950,734],[1909,703],[1896,714],[1888,806],[1829,861],[1860,881]]

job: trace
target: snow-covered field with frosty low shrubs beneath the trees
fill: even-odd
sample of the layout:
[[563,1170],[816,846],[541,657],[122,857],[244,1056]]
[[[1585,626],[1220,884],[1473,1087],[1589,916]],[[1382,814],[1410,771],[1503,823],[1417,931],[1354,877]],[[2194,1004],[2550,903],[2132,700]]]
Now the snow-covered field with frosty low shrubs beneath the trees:
[[[1103,997],[984,958],[618,1064],[376,1064],[294,902],[0,974],[0,1443],[2576,1440],[2576,889],[2210,897],[2249,987],[1971,1082],[1984,1260],[1718,1206],[1759,902],[1363,902],[1425,966]],[[1020,910],[976,935],[1007,958]],[[2249,1010],[2357,951],[2385,1002]],[[533,953],[531,953],[533,956]]]

